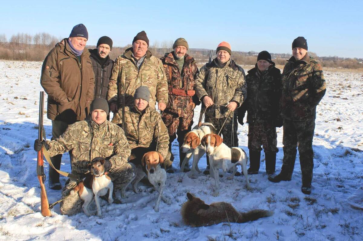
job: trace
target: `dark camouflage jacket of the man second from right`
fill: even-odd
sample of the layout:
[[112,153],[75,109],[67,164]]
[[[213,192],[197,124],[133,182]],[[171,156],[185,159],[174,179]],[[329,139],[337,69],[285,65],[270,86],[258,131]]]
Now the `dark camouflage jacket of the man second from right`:
[[247,98],[238,108],[238,119],[247,111],[247,123],[254,121],[276,120],[280,116],[281,73],[272,62],[270,67],[261,72],[257,64],[246,75]]

